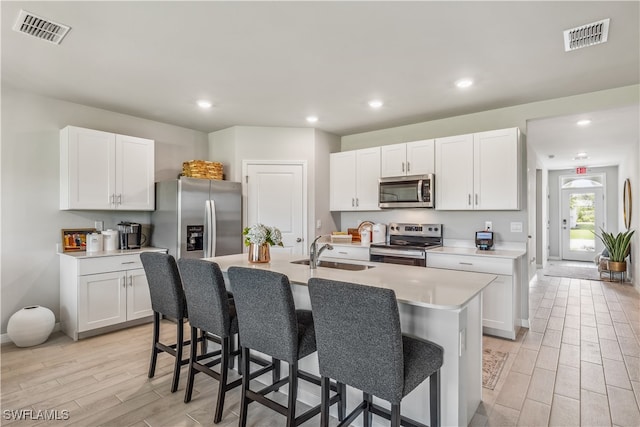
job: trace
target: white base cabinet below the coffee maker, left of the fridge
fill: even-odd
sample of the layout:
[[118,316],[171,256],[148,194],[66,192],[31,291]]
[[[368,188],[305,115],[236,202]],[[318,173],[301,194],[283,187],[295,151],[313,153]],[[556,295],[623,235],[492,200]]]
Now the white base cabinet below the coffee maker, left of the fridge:
[[146,322],[152,315],[139,253],[60,255],[60,325],[74,340]]

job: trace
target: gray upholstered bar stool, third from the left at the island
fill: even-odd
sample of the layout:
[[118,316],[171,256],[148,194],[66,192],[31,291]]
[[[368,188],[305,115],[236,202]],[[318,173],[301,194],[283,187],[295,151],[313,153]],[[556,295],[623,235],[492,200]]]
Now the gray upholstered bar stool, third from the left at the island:
[[[316,351],[313,317],[309,310],[296,310],[287,276],[271,271],[231,267],[228,271],[233,291],[242,348],[243,382],[240,426],[247,423],[250,402],[255,401],[287,417],[287,427],[297,426],[320,412],[320,405],[296,416],[298,378],[320,385],[320,378],[298,369],[298,360]],[[259,391],[249,388],[249,351],[255,350],[289,364],[289,375]],[[287,407],[266,397],[289,383]],[[328,386],[329,387],[329,386]],[[332,389],[336,390],[335,385]],[[339,395],[327,399],[327,404]],[[344,413],[344,407],[340,409]]]

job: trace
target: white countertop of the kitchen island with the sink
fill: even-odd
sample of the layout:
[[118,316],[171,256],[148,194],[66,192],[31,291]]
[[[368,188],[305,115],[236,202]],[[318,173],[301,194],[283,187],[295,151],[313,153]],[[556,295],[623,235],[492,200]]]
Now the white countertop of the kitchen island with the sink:
[[272,253],[271,262],[265,264],[249,263],[247,254],[205,258],[205,260],[216,262],[222,271],[227,271],[232,266],[276,271],[287,275],[292,283],[302,285],[306,285],[312,277],[320,277],[393,289],[400,302],[437,309],[463,307],[496,278],[493,274],[353,260],[345,260],[345,262],[375,267],[361,271],[325,267],[311,270],[307,265],[291,263],[304,258],[301,255]]

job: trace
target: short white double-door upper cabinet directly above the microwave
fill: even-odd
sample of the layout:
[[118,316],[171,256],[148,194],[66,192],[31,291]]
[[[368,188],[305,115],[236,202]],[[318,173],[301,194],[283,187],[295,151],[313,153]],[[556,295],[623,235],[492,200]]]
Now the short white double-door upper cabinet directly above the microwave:
[[381,147],[380,176],[425,175],[434,172],[433,139]]

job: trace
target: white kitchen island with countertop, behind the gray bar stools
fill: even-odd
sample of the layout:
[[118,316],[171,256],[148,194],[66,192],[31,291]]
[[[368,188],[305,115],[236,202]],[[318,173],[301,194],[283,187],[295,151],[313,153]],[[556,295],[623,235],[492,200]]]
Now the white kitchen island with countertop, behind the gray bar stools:
[[[216,262],[223,272],[229,267],[238,266],[287,275],[292,284],[296,308],[311,308],[307,291],[307,282],[311,277],[393,289],[399,303],[403,332],[433,341],[444,349],[444,364],[441,369],[441,424],[468,425],[482,397],[482,290],[496,276],[357,261],[350,263],[366,264],[373,268],[346,271],[318,267],[311,270],[307,265],[292,263],[302,258],[299,255],[272,254],[270,263],[251,264],[247,261],[246,254],[239,254],[206,260]],[[301,360],[300,368],[317,374],[316,354]],[[317,404],[319,388],[304,382],[299,384],[298,399]],[[361,393],[349,388],[348,407],[352,408],[360,400]],[[384,401],[376,399],[376,402],[389,407]],[[334,407],[332,411],[335,411]],[[428,381],[403,399],[402,415],[428,424]],[[356,421],[359,422],[360,420]]]

